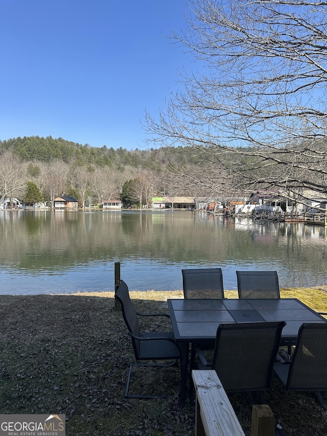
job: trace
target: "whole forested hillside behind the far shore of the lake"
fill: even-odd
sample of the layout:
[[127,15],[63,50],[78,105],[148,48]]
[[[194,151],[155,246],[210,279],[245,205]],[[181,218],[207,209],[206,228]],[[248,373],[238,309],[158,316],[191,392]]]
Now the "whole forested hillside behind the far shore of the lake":
[[[324,141],[313,147],[319,156],[327,149]],[[313,159],[311,151],[307,158],[306,148],[303,141],[268,153],[261,146],[222,149],[214,144],[114,150],[51,136],[17,137],[0,141],[0,202],[17,198],[27,205],[52,205],[58,195],[68,195],[82,208],[110,199],[121,199],[125,207],[149,207],[155,196],[228,202],[265,190],[295,204],[309,198],[309,189],[316,198],[326,194],[323,161]]]

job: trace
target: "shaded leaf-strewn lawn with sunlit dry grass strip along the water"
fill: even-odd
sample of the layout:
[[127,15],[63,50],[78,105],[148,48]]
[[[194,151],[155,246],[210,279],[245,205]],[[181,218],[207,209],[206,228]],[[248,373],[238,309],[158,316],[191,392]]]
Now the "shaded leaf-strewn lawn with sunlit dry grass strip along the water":
[[[227,296],[236,296],[235,291]],[[327,294],[319,289],[286,289],[282,296],[327,311]],[[182,297],[182,292],[131,292],[131,297],[139,311],[167,311],[167,299]],[[72,436],[194,434],[194,409],[180,407],[176,397],[124,398],[133,353],[122,314],[113,307],[112,292],[2,295],[0,413],[60,412]],[[170,328],[165,319],[153,325],[147,318],[143,326]],[[174,393],[178,384],[179,368],[146,375],[137,369],[131,388]],[[313,393],[286,393],[274,379],[266,399],[287,434],[327,434],[327,412]],[[244,396],[232,395],[230,401],[249,435],[251,410]]]

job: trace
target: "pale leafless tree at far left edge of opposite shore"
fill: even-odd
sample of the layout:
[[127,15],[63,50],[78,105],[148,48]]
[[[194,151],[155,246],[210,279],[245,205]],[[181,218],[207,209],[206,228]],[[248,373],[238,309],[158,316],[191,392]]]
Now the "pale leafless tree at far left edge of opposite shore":
[[26,188],[26,172],[11,151],[0,155],[0,202],[5,198],[20,197]]

